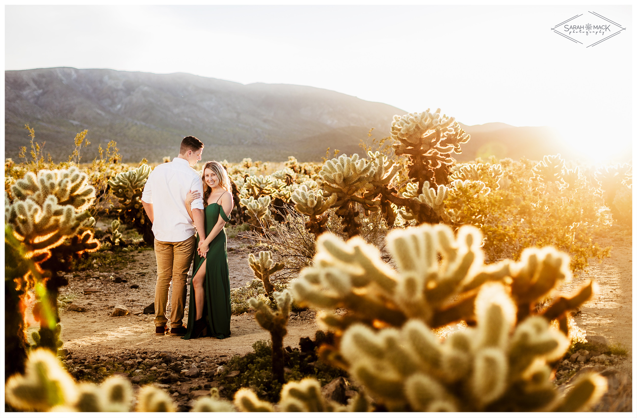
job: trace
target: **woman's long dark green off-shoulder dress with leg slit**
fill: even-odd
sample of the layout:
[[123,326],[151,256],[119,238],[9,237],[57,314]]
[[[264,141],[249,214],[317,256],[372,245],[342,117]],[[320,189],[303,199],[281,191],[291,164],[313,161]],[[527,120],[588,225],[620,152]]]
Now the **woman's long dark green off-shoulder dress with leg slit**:
[[[217,224],[219,216],[224,221],[230,219],[225,215],[224,208],[218,203],[206,206],[205,210],[205,228],[208,235],[212,228]],[[197,247],[199,246],[199,235],[197,235]],[[192,277],[196,274],[204,258],[201,258],[197,251],[194,255],[194,268],[192,269]],[[230,337],[230,275],[228,270],[228,252],[226,247],[225,227],[219,231],[217,236],[210,242],[208,246],[208,254],[206,254],[206,275],[203,281],[204,288],[204,304],[203,316],[206,318],[208,331],[206,337],[227,338]],[[188,326],[186,335],[183,340],[195,338],[195,294],[193,291],[192,281],[190,281],[190,303],[188,310]]]

